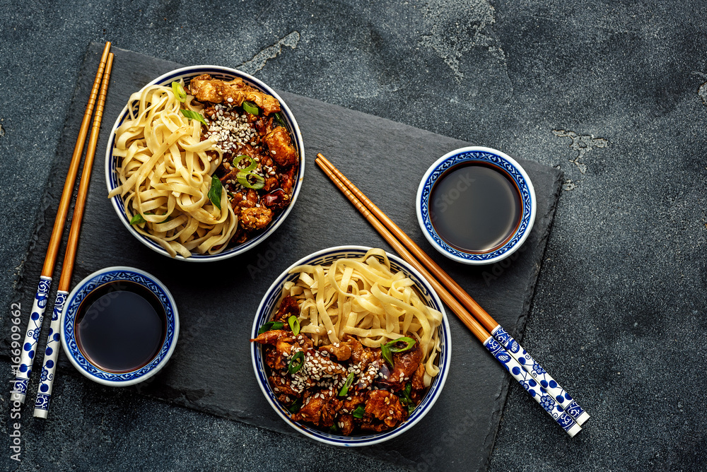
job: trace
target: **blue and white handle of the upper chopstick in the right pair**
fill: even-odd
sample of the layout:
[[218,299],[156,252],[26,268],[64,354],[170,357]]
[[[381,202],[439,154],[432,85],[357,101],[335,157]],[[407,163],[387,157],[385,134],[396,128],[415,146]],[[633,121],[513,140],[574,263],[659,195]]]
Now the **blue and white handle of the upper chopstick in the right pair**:
[[542,365],[535,362],[532,356],[527,353],[527,350],[520,346],[518,341],[515,341],[513,336],[510,336],[501,325],[496,326],[496,329],[491,331],[491,335],[496,338],[498,343],[501,343],[501,346],[508,350],[508,353],[522,365],[524,370],[537,380],[541,387],[547,390],[547,393],[571,415],[578,425],[583,425],[585,421],[589,419],[589,413],[584,411],[570,394],[560,387],[560,385],[555,382],[555,379],[544,370]]

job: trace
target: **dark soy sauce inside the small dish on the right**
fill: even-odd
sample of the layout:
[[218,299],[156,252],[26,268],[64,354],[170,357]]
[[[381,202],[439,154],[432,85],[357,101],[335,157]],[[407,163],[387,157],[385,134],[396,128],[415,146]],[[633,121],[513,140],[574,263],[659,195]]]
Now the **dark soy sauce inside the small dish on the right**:
[[502,170],[481,163],[461,164],[432,187],[430,218],[437,234],[462,252],[491,252],[520,224],[522,202]]

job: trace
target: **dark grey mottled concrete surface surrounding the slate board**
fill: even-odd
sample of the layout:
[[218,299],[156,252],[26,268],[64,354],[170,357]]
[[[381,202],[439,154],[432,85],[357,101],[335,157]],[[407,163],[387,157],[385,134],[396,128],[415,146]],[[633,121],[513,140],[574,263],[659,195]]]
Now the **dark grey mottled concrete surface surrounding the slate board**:
[[[565,173],[524,345],[592,419],[563,437],[512,384],[490,471],[701,470],[705,2],[360,3],[2,1],[0,316],[10,312],[88,43],[238,66],[280,90]],[[11,377],[6,359],[0,375]],[[391,468],[130,391],[89,389],[78,377],[55,393],[52,420],[23,417],[21,464],[8,447],[0,464]],[[434,470],[434,458],[426,465]]]

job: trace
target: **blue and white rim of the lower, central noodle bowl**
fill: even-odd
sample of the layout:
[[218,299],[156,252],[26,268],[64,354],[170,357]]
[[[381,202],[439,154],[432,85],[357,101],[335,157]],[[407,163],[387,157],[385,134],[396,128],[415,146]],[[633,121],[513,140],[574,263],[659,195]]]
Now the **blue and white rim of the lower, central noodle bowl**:
[[[328,247],[326,249],[320,249],[317,252],[313,252],[312,254],[308,254],[307,256],[304,256],[303,258],[299,259],[296,261],[294,264],[289,266],[285,271],[283,271],[276,279],[275,281],[270,285],[268,288],[267,292],[264,294],[262,297],[262,300],[260,301],[260,304],[258,306],[257,312],[255,314],[255,319],[253,320],[253,326],[251,329],[251,338],[255,338],[257,336],[257,330],[259,327],[262,325],[260,321],[263,319],[269,318],[272,314],[272,309],[270,310],[269,313],[264,314],[264,308],[267,305],[267,302],[269,299],[271,299],[274,295],[276,295],[275,300],[279,300],[279,296],[281,294],[281,289],[283,283],[286,281],[288,277],[291,277],[291,274],[289,274],[289,271],[293,269],[294,267],[304,264],[304,263],[310,263],[310,261],[316,260],[316,259],[322,259],[323,256],[326,256],[327,254],[334,255],[337,253],[344,253],[344,252],[356,252],[358,254],[366,254],[368,249],[372,249],[371,247],[367,246],[358,246],[358,245],[343,245],[343,246],[334,246],[334,247]],[[397,437],[398,435],[401,435],[403,432],[406,432],[409,430],[411,427],[416,425],[427,413],[428,411],[431,410],[433,405],[436,403],[437,399],[439,398],[443,387],[445,385],[445,382],[447,380],[447,376],[449,373],[450,369],[450,362],[451,362],[451,348],[452,348],[452,338],[450,334],[450,327],[449,327],[449,320],[447,317],[447,313],[445,312],[444,305],[442,303],[442,300],[440,300],[439,295],[436,293],[436,291],[431,287],[429,282],[427,281],[426,278],[424,278],[419,271],[416,271],[414,267],[410,266],[406,261],[400,259],[398,256],[395,256],[395,254],[390,254],[390,252],[385,253],[390,261],[394,264],[397,264],[401,269],[404,269],[410,276],[413,278],[418,279],[421,283],[424,285],[424,289],[428,292],[428,296],[431,297],[433,302],[437,305],[438,309],[442,313],[442,324],[438,326],[438,330],[440,330],[440,335],[442,339],[442,343],[440,343],[441,346],[441,352],[439,355],[439,368],[440,372],[437,377],[435,377],[433,384],[431,385],[431,390],[428,391],[428,393],[425,395],[423,401],[421,402],[421,405],[423,405],[423,408],[421,409],[416,409],[416,411],[413,412],[411,417],[409,417],[405,422],[399,426],[396,427],[394,430],[390,431],[385,431],[385,432],[379,432],[375,434],[370,434],[370,435],[361,435],[361,436],[341,436],[341,435],[332,435],[327,432],[322,432],[320,430],[316,430],[313,427],[309,427],[308,425],[303,425],[301,423],[296,423],[291,418],[287,413],[284,411],[284,407],[280,406],[279,403],[277,403],[274,400],[274,394],[271,391],[269,387],[269,382],[266,379],[263,379],[260,375],[261,370],[259,369],[258,365],[258,360],[262,362],[263,356],[260,354],[262,352],[262,346],[259,345],[258,343],[250,343],[250,358],[252,360],[252,366],[253,370],[255,372],[255,378],[257,380],[257,383],[260,387],[260,390],[262,391],[263,395],[265,396],[265,399],[267,399],[268,403],[270,406],[274,409],[274,411],[282,418],[285,423],[290,425],[294,430],[300,432],[301,434],[310,437],[310,439],[315,439],[319,442],[323,442],[325,444],[332,444],[334,446],[344,446],[344,447],[361,447],[361,446],[370,446],[372,444],[378,444],[380,442],[385,442],[388,439],[392,439],[394,437]],[[267,316],[264,316],[267,315]],[[257,355],[259,353],[259,355]],[[263,362],[263,369],[262,372],[264,371],[264,362]],[[266,386],[267,384],[267,386]]]

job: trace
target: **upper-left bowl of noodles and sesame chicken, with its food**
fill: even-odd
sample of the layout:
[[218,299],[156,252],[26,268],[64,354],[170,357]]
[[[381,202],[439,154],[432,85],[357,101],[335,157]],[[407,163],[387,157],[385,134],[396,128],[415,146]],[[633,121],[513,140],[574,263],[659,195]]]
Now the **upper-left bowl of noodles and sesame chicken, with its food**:
[[296,122],[267,86],[233,69],[178,69],[131,95],[117,120],[109,198],[148,247],[221,259],[281,223],[303,159]]

